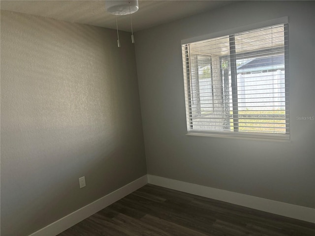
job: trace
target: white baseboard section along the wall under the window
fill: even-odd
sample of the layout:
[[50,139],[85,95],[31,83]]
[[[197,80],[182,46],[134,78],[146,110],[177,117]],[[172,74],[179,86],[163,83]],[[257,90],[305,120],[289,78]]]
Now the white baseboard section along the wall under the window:
[[230,192],[170,178],[148,175],[148,183],[227,203],[315,223],[315,209]]

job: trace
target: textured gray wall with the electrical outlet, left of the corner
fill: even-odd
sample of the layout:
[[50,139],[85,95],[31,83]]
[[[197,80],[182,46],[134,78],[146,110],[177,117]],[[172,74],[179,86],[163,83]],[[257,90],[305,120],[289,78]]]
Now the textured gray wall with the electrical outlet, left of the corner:
[[2,236],[27,236],[146,174],[134,46],[121,32],[117,48],[116,36],[1,11]]

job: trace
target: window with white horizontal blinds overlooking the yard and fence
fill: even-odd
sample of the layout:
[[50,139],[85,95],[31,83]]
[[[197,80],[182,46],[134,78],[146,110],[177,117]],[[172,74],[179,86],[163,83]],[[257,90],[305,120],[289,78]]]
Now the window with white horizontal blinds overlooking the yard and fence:
[[189,133],[289,137],[288,25],[182,44]]

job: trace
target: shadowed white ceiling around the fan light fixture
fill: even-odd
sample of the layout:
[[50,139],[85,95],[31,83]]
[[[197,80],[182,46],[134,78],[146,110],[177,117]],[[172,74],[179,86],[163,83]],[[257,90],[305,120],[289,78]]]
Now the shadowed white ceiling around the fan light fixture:
[[[213,10],[233,0],[139,0],[132,14],[138,31]],[[51,17],[58,20],[116,29],[116,16],[105,11],[104,0],[1,0],[1,10]],[[130,31],[130,16],[118,16],[120,30]]]

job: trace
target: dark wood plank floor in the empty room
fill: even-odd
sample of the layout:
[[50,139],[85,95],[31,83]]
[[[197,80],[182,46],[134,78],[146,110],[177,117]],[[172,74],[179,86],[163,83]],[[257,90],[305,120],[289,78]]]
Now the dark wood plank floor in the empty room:
[[315,236],[315,224],[147,184],[58,236]]

